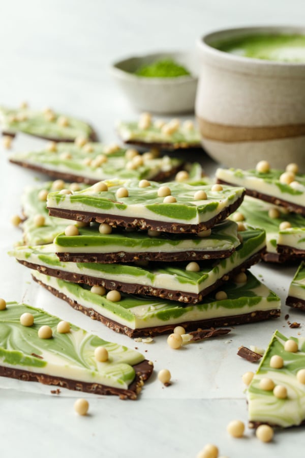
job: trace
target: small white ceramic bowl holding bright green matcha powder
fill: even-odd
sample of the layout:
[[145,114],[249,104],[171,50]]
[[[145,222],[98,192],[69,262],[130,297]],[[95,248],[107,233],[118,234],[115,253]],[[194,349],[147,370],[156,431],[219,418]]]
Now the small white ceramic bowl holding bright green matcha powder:
[[[175,78],[147,78],[134,72],[143,65],[172,59],[191,75]],[[196,60],[187,52],[158,52],[115,62],[111,73],[130,103],[139,110],[163,114],[193,112],[197,88]]]

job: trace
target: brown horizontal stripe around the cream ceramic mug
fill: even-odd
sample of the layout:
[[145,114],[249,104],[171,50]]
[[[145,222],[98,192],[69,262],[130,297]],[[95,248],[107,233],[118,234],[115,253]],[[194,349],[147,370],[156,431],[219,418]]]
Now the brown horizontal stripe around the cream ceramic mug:
[[224,142],[276,140],[305,135],[305,124],[263,127],[230,126],[211,123],[200,117],[197,117],[197,122],[203,138]]

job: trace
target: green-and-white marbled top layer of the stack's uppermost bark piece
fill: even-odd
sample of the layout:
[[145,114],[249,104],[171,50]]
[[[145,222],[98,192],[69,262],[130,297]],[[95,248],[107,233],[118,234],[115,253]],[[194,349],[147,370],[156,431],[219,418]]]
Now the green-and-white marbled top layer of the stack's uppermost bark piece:
[[[147,187],[139,187],[138,180],[105,180],[107,191],[96,191],[95,185],[83,191],[64,195],[53,192],[48,195],[48,208],[66,209],[97,214],[120,215],[144,218],[155,221],[169,221],[185,224],[199,224],[209,221],[222,210],[232,205],[244,192],[243,188],[223,186],[221,191],[212,191],[212,185],[190,185],[172,181],[159,184],[150,181]],[[158,196],[161,186],[167,186],[175,203],[163,203],[164,197]],[[116,197],[118,188],[125,187],[128,197]],[[203,190],[207,199],[195,199],[196,191]],[[161,224],[162,225],[162,224]]]

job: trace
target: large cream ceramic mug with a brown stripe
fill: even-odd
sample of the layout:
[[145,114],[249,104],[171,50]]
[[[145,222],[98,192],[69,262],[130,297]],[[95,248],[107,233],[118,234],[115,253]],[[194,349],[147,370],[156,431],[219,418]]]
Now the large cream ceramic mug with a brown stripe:
[[196,116],[202,145],[227,167],[305,171],[305,63],[246,58],[215,44],[255,34],[305,34],[305,27],[222,30],[199,40],[201,72]]

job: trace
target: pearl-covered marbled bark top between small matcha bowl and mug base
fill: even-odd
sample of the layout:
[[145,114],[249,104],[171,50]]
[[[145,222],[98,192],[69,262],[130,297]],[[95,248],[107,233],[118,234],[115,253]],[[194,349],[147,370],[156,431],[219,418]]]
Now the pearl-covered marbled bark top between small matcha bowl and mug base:
[[173,148],[185,146],[200,146],[201,138],[196,128],[188,130],[181,125],[175,132],[166,134],[160,127],[151,123],[147,129],[141,129],[139,124],[134,122],[120,122],[117,125],[117,133],[123,141],[171,144]]

